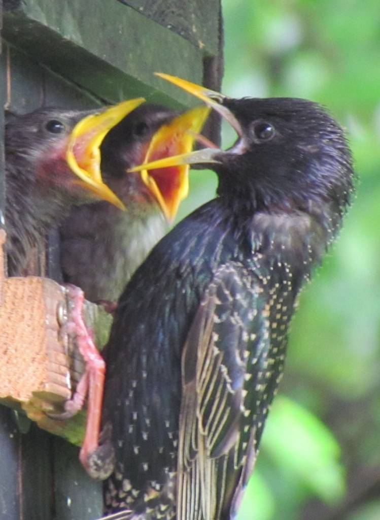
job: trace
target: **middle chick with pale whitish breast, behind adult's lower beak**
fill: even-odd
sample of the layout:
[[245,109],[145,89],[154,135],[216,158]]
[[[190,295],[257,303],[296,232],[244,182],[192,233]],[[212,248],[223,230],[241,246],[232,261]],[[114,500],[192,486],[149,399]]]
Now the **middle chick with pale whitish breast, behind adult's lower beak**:
[[141,105],[104,138],[104,182],[125,204],[107,202],[74,207],[61,226],[64,280],[91,301],[116,302],[135,269],[167,232],[188,192],[188,166],[126,173],[144,160],[190,152],[193,133],[208,115],[203,106],[176,116],[158,105]]

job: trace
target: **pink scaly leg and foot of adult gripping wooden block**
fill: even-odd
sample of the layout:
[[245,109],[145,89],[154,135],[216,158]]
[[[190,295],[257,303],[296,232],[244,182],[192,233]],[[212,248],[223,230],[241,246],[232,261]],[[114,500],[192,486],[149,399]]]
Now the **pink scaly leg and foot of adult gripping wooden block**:
[[74,285],[67,285],[68,295],[74,302],[71,318],[67,327],[69,333],[75,333],[76,344],[85,361],[85,372],[76,386],[72,398],[65,403],[65,412],[60,415],[51,415],[55,419],[69,419],[87,400],[86,433],[80,452],[80,461],[87,469],[88,458],[99,445],[101,406],[103,400],[104,375],[106,363],[99,354],[93,338],[89,334],[82,317],[84,302],[83,291]]

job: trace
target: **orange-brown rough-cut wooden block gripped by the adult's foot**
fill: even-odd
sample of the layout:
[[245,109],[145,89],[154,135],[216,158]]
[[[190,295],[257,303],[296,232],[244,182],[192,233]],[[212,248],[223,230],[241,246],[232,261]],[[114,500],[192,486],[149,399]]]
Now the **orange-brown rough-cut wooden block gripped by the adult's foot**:
[[[0,246],[5,233],[0,230]],[[84,365],[74,340],[58,320],[68,321],[72,302],[63,287],[48,278],[4,278],[0,248],[0,399],[18,403],[28,417],[49,432],[81,444],[85,413],[69,421],[49,419],[71,398]],[[107,341],[111,317],[100,316],[94,304],[86,303],[88,326],[102,333],[98,344]],[[61,322],[63,319],[61,318]]]

